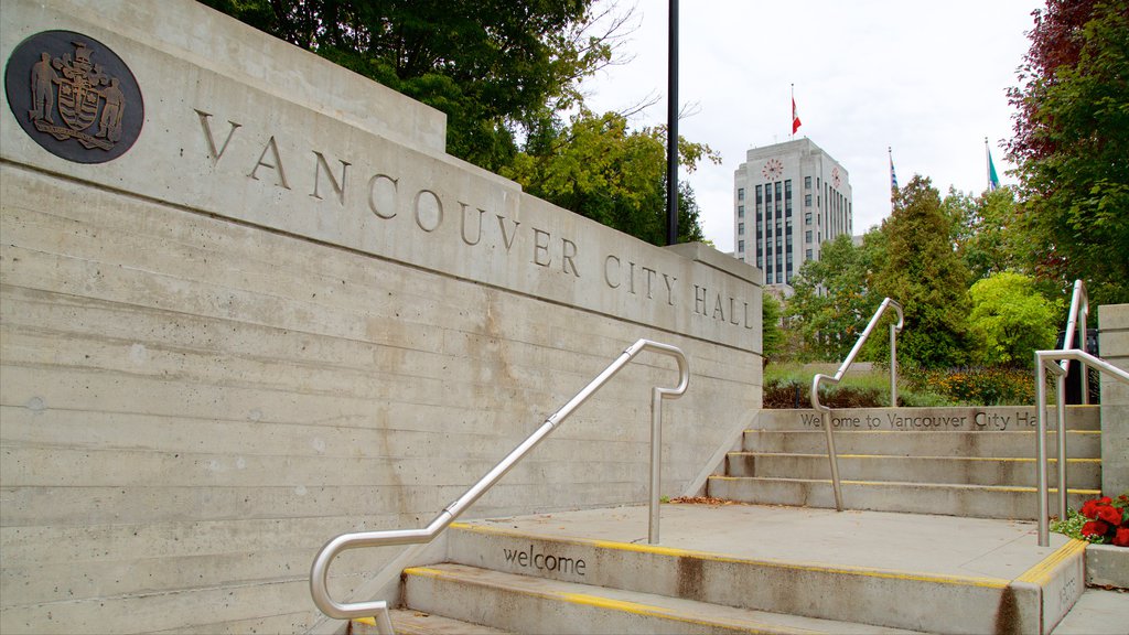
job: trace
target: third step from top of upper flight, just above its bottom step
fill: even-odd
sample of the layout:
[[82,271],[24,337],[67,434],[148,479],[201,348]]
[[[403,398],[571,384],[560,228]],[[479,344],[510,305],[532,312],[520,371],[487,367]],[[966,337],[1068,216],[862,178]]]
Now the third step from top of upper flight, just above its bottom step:
[[[1057,461],[1050,462],[1053,473]],[[1067,482],[1080,489],[1101,488],[1100,459],[1069,459]],[[852,480],[936,482],[951,485],[1008,485],[1034,487],[1032,458],[891,456],[885,454],[840,454],[839,473]],[[828,455],[776,452],[730,452],[726,476],[829,479]]]

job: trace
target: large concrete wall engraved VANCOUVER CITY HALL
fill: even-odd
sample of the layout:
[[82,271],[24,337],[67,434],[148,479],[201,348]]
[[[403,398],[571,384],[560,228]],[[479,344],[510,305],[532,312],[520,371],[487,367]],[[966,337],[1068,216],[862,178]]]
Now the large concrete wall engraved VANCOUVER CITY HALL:
[[[325,540],[422,527],[638,338],[690,358],[664,495],[759,408],[759,271],[533,199],[194,2],[5,0],[6,67],[50,29],[116,53],[145,118],[87,164],[0,104],[0,632],[308,629]],[[675,381],[642,356],[471,515],[642,502]]]

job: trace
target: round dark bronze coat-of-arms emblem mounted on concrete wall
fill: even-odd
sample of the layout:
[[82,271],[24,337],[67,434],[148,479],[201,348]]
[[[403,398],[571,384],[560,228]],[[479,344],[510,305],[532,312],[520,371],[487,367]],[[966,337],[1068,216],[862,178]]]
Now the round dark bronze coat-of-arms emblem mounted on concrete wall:
[[78,33],[47,31],[12,51],[5,70],[8,105],[51,154],[105,163],[141,133],[145,104],[133,73],[108,46]]

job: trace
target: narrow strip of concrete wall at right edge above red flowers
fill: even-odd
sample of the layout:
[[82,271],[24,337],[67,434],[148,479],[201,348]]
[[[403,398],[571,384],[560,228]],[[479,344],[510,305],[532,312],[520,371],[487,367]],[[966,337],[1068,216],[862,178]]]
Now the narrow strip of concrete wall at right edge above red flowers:
[[[1129,371],[1129,304],[1097,312],[1102,359]],[[1102,493],[1129,492],[1129,385],[1102,373]]]

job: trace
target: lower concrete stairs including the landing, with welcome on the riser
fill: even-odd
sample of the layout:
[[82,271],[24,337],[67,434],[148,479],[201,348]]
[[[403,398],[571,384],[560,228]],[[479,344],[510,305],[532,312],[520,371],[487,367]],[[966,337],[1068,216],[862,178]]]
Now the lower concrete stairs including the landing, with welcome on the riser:
[[[645,507],[456,523],[445,562],[403,572],[393,623],[401,634],[1049,633],[1083,586],[1085,545],[1059,537],[1032,553],[1030,523],[744,505],[663,515],[659,546],[603,538],[638,533]],[[975,536],[989,523],[995,533]],[[789,537],[791,524],[809,531]],[[870,538],[854,540],[859,530]]]

